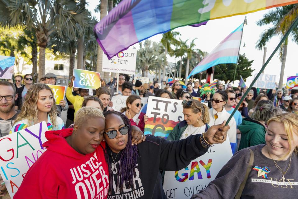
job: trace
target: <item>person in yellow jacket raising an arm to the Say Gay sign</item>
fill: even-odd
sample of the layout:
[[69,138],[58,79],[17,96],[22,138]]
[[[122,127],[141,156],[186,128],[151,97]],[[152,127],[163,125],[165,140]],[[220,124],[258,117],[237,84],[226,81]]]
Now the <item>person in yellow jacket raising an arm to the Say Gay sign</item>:
[[73,81],[75,81],[75,76],[71,77],[71,82],[67,86],[66,97],[71,102],[71,104],[73,104],[73,108],[75,109],[74,117],[76,118],[76,112],[82,107],[84,97],[89,95],[89,89],[80,88],[79,95],[72,95]]

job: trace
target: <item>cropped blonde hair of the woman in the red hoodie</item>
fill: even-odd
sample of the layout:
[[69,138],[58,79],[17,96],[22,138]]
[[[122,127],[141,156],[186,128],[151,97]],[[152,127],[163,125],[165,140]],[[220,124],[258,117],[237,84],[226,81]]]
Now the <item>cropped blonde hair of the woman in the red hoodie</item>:
[[103,112],[101,110],[91,106],[87,106],[87,107],[85,106],[85,107],[82,107],[80,110],[78,110],[78,112],[76,112],[74,124],[80,126],[89,118],[102,118],[103,120],[105,120],[103,116]]

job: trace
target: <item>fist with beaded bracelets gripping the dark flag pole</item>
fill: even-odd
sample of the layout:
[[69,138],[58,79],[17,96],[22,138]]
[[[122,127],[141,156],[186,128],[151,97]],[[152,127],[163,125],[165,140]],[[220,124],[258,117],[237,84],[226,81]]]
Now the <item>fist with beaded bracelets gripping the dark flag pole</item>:
[[230,126],[226,125],[226,121],[222,124],[211,126],[205,133],[206,140],[211,144],[218,144],[226,141],[227,139],[227,130],[230,129]]

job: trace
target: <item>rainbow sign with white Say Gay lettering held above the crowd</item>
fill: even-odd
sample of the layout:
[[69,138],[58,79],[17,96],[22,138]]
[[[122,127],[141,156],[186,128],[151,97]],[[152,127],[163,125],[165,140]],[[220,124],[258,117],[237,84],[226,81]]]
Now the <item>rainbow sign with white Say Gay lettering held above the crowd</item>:
[[85,89],[98,89],[101,86],[100,73],[81,69],[73,69],[75,81],[73,87]]

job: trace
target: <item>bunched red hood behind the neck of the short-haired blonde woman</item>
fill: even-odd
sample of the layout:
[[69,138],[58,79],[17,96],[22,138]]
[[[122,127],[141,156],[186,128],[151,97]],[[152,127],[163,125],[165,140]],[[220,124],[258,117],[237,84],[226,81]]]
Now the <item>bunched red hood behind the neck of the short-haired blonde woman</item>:
[[[82,157],[85,157],[85,155],[78,153],[66,142],[65,138],[71,136],[72,130],[73,128],[66,128],[57,131],[46,131],[45,137],[48,139],[48,141],[44,142],[43,147],[46,147],[47,150],[55,151],[75,159],[81,159]],[[105,148],[105,142],[101,142],[100,145]]]

